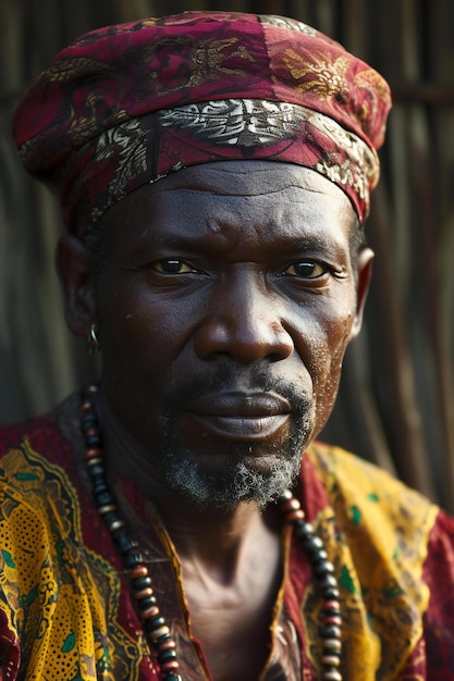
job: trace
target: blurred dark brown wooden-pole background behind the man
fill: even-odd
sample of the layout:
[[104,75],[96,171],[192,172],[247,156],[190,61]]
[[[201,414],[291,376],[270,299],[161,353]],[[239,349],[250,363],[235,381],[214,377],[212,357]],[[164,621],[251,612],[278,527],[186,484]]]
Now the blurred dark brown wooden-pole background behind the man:
[[454,510],[454,2],[0,0],[0,423],[96,376],[66,331],[53,250],[59,207],[25,176],[11,114],[52,55],[107,24],[184,10],[283,14],[340,40],[390,82],[368,239],[375,283],[322,433]]

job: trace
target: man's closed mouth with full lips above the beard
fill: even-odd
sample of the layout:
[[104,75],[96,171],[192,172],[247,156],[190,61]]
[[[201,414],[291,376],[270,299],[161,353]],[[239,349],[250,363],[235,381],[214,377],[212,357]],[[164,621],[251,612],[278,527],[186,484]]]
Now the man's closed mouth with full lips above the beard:
[[292,408],[272,393],[222,393],[193,401],[188,411],[207,435],[254,443],[283,428]]

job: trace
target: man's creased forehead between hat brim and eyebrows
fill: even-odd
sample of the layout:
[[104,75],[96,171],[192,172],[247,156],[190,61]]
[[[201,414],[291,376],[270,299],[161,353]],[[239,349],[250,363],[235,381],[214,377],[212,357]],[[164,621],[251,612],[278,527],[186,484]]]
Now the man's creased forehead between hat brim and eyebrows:
[[187,168],[136,189],[106,215],[108,237],[203,238],[217,234],[346,243],[356,213],[319,173],[291,163],[223,161]]

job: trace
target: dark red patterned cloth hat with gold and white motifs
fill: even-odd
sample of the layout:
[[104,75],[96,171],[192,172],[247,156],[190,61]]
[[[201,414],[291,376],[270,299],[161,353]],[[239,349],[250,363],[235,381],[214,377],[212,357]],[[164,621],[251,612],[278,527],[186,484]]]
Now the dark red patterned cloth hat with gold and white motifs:
[[311,168],[364,221],[390,107],[376,71],[306,24],[184,12],[64,49],[19,106],[14,135],[78,235],[136,187],[225,159]]

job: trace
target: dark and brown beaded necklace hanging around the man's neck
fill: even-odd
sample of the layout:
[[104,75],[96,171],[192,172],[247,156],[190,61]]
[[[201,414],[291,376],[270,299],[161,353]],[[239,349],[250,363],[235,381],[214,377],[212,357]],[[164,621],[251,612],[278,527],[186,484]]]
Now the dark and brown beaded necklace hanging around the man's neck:
[[[133,540],[120,516],[115,498],[106,481],[102,438],[98,418],[90,395],[98,387],[89,385],[82,404],[82,431],[85,438],[85,462],[91,479],[93,494],[99,515],[109,530],[128,575],[130,589],[150,651],[156,654],[163,681],[183,681],[180,674],[176,643],[158,606],[152,579],[138,544]],[[319,629],[322,654],[320,657],[321,681],[342,681],[341,665],[342,614],[339,603],[338,580],[334,566],[328,560],[323,543],[314,527],[306,522],[305,512],[290,490],[278,499],[278,508],[284,522],[293,525],[312,566],[316,585],[322,600],[323,621]]]

